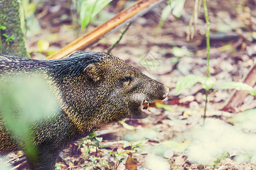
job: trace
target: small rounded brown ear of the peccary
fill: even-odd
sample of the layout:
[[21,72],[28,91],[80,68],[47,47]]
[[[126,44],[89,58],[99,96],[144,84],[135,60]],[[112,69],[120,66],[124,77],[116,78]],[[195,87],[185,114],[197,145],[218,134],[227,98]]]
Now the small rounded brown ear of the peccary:
[[84,72],[93,80],[93,82],[98,82],[103,78],[103,70],[100,66],[96,64],[89,64]]

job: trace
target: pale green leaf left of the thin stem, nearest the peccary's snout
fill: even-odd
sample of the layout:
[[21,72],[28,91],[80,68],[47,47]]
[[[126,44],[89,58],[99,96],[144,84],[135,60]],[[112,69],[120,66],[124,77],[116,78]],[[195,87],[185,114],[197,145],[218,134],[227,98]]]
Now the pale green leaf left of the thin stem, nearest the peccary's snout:
[[176,83],[176,92],[179,94],[180,90],[182,88],[191,88],[196,83],[201,83],[203,85],[203,88],[205,90],[209,90],[212,88],[214,83],[216,82],[216,79],[212,76],[206,77],[206,76],[199,76],[199,75],[187,75],[183,78],[180,78]]

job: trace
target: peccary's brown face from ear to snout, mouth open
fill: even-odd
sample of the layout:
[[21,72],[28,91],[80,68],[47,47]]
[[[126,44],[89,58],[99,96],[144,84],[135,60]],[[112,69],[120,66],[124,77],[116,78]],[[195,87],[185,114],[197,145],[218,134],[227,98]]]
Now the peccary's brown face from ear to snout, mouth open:
[[102,103],[108,104],[108,112],[114,111],[116,117],[146,118],[150,114],[148,104],[165,99],[169,93],[169,88],[114,56],[88,65],[85,73],[90,83],[106,88]]

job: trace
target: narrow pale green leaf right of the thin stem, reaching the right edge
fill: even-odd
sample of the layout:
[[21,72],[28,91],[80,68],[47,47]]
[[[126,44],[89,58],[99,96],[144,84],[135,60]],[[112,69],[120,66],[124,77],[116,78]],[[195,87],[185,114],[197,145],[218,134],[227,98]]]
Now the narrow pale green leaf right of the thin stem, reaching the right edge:
[[248,84],[242,82],[226,82],[221,84],[218,89],[236,89],[236,90],[245,90],[250,95],[255,96],[255,90],[253,87],[249,86]]

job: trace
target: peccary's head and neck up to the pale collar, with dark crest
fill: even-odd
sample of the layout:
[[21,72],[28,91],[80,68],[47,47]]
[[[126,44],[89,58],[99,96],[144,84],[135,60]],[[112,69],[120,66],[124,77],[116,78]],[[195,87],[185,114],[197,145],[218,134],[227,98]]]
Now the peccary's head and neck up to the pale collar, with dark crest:
[[[169,88],[118,57],[79,53],[70,59],[74,66],[72,82],[59,71],[63,78],[57,84],[63,86],[59,90],[63,91],[62,103],[68,103],[64,104],[65,110],[71,114],[75,108],[79,113],[74,112],[71,117],[76,117],[80,123],[81,120],[97,124],[97,119],[100,124],[123,118],[146,118],[150,114],[148,104],[163,100],[169,93]],[[89,62],[84,64],[87,60]],[[76,69],[76,65],[82,69]],[[70,66],[63,66],[62,70],[67,69]]]

